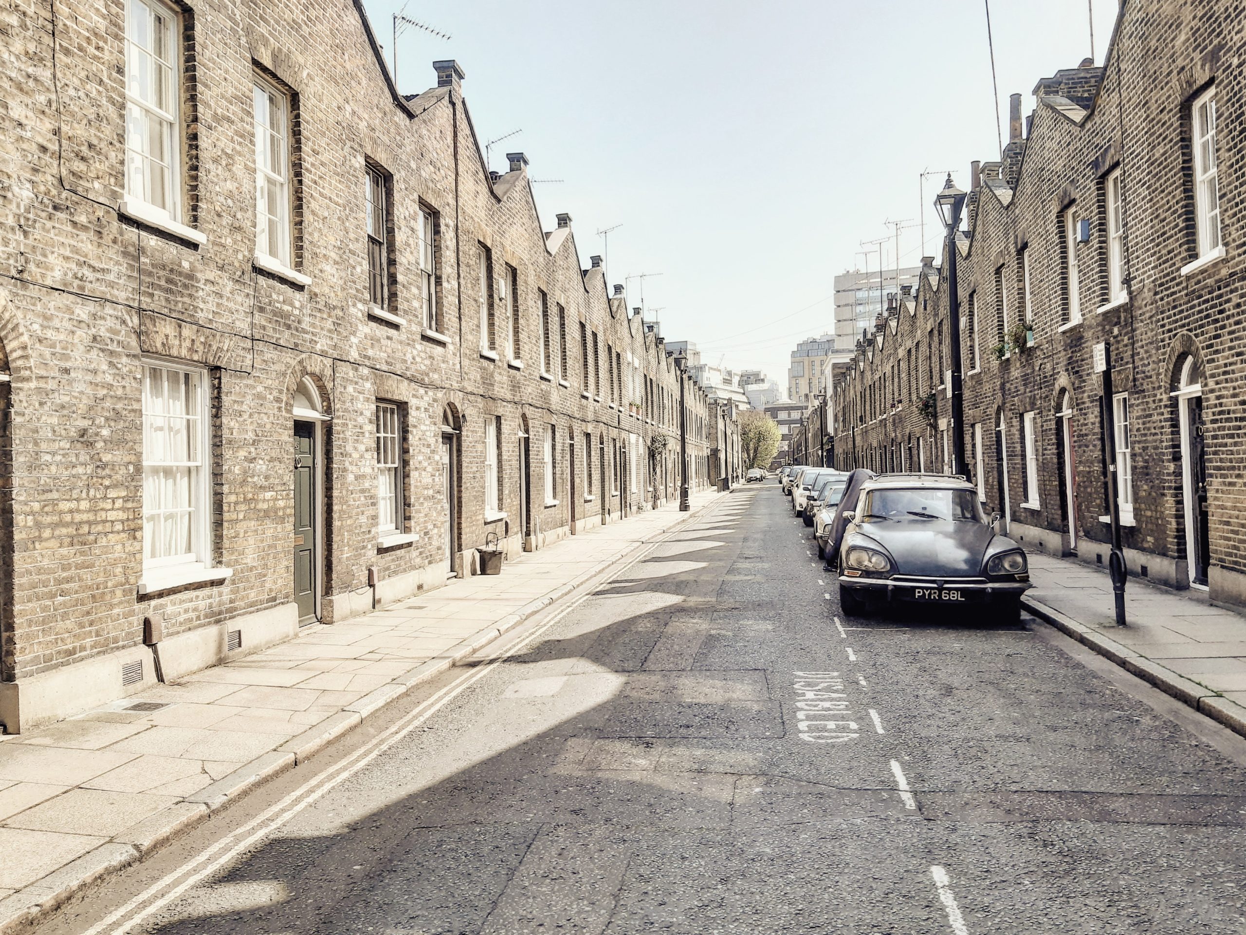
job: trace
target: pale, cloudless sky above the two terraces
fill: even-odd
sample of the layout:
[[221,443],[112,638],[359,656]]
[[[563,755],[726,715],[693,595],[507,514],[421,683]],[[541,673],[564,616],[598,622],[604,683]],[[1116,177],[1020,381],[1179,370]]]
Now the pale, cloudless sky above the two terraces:
[[[1091,0],[1103,61],[1115,0]],[[922,256],[923,170],[998,158],[991,57],[978,0],[365,0],[392,61],[391,14],[452,39],[399,37],[404,94],[456,59],[492,167],[522,151],[546,229],[567,212],[581,266],[609,236],[609,279],[644,280],[668,340],[703,360],[761,368],[786,386],[796,342],[834,330],[835,274],[862,241],[900,233]],[[1008,95],[1034,106],[1039,79],[1090,55],[1088,0],[992,0],[999,120]],[[938,236],[926,187],[927,252]],[[870,247],[870,269],[877,248]],[[891,244],[883,262],[895,263]],[[640,280],[627,283],[640,304]]]

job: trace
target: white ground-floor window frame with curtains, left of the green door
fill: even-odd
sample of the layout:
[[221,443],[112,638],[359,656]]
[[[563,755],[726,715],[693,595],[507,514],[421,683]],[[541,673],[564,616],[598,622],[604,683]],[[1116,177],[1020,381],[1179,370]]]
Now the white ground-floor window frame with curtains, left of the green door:
[[[163,395],[159,399],[159,406],[153,405],[156,398],[151,394],[152,380],[159,374],[161,386],[163,388]],[[189,376],[189,385],[194,388],[197,399],[192,399],[189,405],[183,405],[183,411],[169,411],[169,396],[168,396],[168,381],[169,376],[176,375],[176,379],[181,381],[183,378]],[[183,384],[184,386],[186,384]],[[162,359],[143,359],[143,379],[142,379],[142,426],[143,426],[143,572],[145,576],[148,571],[159,570],[167,571],[169,568],[178,570],[198,570],[208,568],[212,566],[212,517],[211,517],[211,496],[209,496],[209,484],[211,484],[211,458],[212,458],[212,440],[209,436],[209,423],[208,423],[208,372],[201,367],[191,367],[187,364],[179,364],[171,360]],[[183,398],[184,404],[184,398]],[[176,409],[176,406],[174,406]],[[157,420],[162,423],[157,428]],[[174,460],[172,458],[157,459],[157,451],[153,450],[156,445],[157,431],[163,433],[166,439],[173,438],[172,433],[176,431],[171,420],[182,420],[184,423],[183,430],[186,433],[187,441],[192,445],[192,450],[187,451],[188,458],[184,460]],[[197,451],[194,450],[197,449]],[[184,486],[186,501],[184,507],[169,507],[166,504],[159,506],[152,504],[148,492],[153,487],[153,474],[156,471],[178,471],[179,469],[186,470],[184,485],[173,477],[173,482],[178,486]],[[168,490],[168,482],[162,486],[166,491]],[[177,554],[162,554],[152,555],[156,545],[151,531],[151,519],[155,515],[159,515],[162,526],[166,514],[169,512],[184,512],[187,514],[187,551]],[[163,550],[159,550],[163,551]]]

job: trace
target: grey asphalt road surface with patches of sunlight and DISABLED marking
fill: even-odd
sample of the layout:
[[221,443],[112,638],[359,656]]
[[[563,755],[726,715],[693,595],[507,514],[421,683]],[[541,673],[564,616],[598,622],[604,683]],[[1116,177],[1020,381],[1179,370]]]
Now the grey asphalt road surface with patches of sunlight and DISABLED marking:
[[815,560],[749,485],[44,931],[1246,931],[1246,743]]

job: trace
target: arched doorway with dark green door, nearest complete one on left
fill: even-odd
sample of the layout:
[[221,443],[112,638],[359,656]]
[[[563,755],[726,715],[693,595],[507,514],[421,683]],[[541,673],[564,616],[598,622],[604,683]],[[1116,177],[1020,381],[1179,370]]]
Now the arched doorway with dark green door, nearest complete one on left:
[[320,618],[324,591],[324,425],[319,386],[304,376],[294,388],[294,603],[299,625]]

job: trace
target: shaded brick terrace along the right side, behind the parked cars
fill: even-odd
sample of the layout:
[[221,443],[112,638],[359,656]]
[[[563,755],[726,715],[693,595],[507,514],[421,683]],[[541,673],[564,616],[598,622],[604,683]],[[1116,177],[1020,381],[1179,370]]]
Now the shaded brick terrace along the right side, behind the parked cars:
[[835,458],[947,470],[1027,547],[1108,562],[1094,347],[1110,342],[1129,571],[1246,603],[1246,20],[1125,0],[1101,67],[1038,82],[974,163],[956,249],[964,425],[949,424],[947,264],[923,261],[834,388]]

